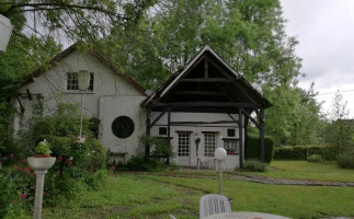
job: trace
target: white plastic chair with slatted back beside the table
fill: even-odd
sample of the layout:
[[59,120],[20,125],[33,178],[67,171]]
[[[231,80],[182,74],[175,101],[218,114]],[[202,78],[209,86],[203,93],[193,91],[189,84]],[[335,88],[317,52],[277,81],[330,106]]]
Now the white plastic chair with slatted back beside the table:
[[226,196],[209,194],[201,198],[199,219],[221,212],[231,212],[231,206]]

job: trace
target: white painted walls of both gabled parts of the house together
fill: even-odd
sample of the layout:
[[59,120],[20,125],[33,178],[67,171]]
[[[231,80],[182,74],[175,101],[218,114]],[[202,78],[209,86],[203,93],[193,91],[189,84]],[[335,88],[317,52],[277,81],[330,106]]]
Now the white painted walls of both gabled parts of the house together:
[[[99,140],[105,149],[111,150],[116,161],[127,161],[132,155],[144,153],[144,147],[139,146],[139,136],[146,134],[146,108],[141,102],[146,95],[132,84],[130,81],[116,74],[111,68],[90,54],[83,54],[73,50],[58,64],[46,72],[33,79],[19,89],[20,102],[23,105],[23,112],[14,116],[13,128],[19,131],[25,128],[28,119],[34,115],[34,110],[42,105],[44,115],[53,115],[59,103],[71,103],[80,106],[81,92],[67,90],[68,72],[78,72],[88,70],[93,73],[93,91],[84,93],[84,115],[100,119]],[[33,95],[30,100],[27,91]],[[35,94],[42,94],[43,97],[36,99]],[[21,112],[20,103],[16,99],[12,100],[14,107]],[[151,120],[158,117],[159,112],[151,112]],[[112,123],[118,116],[128,116],[135,124],[132,136],[118,138],[112,131]],[[159,128],[167,128],[167,114],[162,116],[155,126],[151,127],[152,136],[159,135]],[[239,128],[237,122],[238,114],[217,114],[217,113],[171,113],[171,143],[175,157],[172,162],[178,165],[196,166],[197,157],[205,157],[206,136],[214,135],[215,148],[224,147],[226,140],[239,139]],[[235,120],[235,123],[213,123],[220,120]],[[181,122],[209,122],[210,124],[173,124]],[[233,129],[235,135],[228,136],[228,129]],[[189,134],[187,155],[179,155],[179,135]],[[242,128],[244,139],[244,129]],[[167,137],[167,135],[162,135]],[[199,142],[196,143],[196,139]],[[198,150],[197,150],[198,145]],[[226,159],[226,169],[239,166],[240,146],[235,154],[228,154]],[[242,148],[243,145],[242,145]],[[197,154],[198,151],[198,154]],[[244,151],[244,150],[242,150]],[[214,154],[214,153],[213,153]],[[244,157],[244,154],[242,154]],[[209,166],[214,165],[213,158],[207,159]]]

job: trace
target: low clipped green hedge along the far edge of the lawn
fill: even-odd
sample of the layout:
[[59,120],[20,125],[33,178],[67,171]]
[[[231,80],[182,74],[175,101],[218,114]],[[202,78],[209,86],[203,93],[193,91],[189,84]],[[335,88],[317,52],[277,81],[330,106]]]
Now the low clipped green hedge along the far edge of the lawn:
[[283,146],[274,149],[274,160],[307,160],[308,155],[322,154],[320,146]]

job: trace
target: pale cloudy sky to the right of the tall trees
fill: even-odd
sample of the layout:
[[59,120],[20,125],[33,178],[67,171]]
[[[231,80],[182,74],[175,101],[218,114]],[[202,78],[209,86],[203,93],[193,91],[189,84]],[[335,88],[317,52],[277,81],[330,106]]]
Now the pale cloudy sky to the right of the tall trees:
[[296,36],[302,59],[299,87],[315,82],[322,113],[329,112],[336,91],[354,117],[354,0],[281,0],[286,33]]

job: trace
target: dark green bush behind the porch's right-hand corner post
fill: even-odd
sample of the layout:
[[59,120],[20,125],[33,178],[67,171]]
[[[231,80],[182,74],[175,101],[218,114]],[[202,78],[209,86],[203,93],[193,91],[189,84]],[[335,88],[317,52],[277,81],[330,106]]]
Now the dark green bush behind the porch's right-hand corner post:
[[[264,137],[265,162],[270,163],[273,159],[274,140],[272,137]],[[245,139],[244,157],[245,159],[260,159],[260,138],[259,136],[249,135]]]

